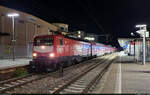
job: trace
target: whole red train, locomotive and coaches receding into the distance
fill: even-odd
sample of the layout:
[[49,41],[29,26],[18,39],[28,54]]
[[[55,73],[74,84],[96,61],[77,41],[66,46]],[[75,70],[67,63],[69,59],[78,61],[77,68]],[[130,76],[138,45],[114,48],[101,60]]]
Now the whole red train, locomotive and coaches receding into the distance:
[[36,36],[30,66],[36,71],[50,71],[57,69],[62,64],[69,66],[115,50],[103,44],[77,40],[63,35]]

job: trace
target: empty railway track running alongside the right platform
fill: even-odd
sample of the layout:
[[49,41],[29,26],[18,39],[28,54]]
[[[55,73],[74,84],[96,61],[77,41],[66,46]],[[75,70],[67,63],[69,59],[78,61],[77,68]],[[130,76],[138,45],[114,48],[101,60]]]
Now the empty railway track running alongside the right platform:
[[69,94],[69,93],[88,93],[90,88],[101,79],[103,74],[107,71],[108,67],[114,60],[114,57],[110,60],[104,60],[101,63],[95,64],[82,72],[78,76],[74,77],[64,85],[60,85],[59,88],[55,88],[51,91],[52,94]]

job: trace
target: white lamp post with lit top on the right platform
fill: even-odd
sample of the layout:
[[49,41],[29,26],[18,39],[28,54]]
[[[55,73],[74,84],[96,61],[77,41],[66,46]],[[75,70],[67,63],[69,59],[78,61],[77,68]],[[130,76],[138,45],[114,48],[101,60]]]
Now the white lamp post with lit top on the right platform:
[[141,37],[143,37],[143,65],[145,65],[145,37],[146,37],[146,32],[147,32],[147,29],[146,29],[146,26],[145,24],[142,24],[142,25],[136,25],[136,28],[140,28],[139,31],[137,31],[138,34],[140,34]]

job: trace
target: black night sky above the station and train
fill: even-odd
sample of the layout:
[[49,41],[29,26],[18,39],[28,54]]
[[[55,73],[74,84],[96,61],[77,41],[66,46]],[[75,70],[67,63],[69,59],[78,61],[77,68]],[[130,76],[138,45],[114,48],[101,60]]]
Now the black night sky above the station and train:
[[149,28],[150,22],[150,0],[0,0],[0,5],[69,24],[70,31],[111,34],[115,44],[118,37],[130,37],[136,24]]

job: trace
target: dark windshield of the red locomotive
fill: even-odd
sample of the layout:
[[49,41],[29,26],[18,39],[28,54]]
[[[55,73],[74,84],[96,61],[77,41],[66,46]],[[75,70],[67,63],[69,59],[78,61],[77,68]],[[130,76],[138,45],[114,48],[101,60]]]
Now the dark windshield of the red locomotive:
[[45,46],[51,46],[54,43],[54,39],[53,37],[47,37],[47,38],[36,38],[34,40],[34,45],[35,46],[41,46],[41,45],[45,45]]

